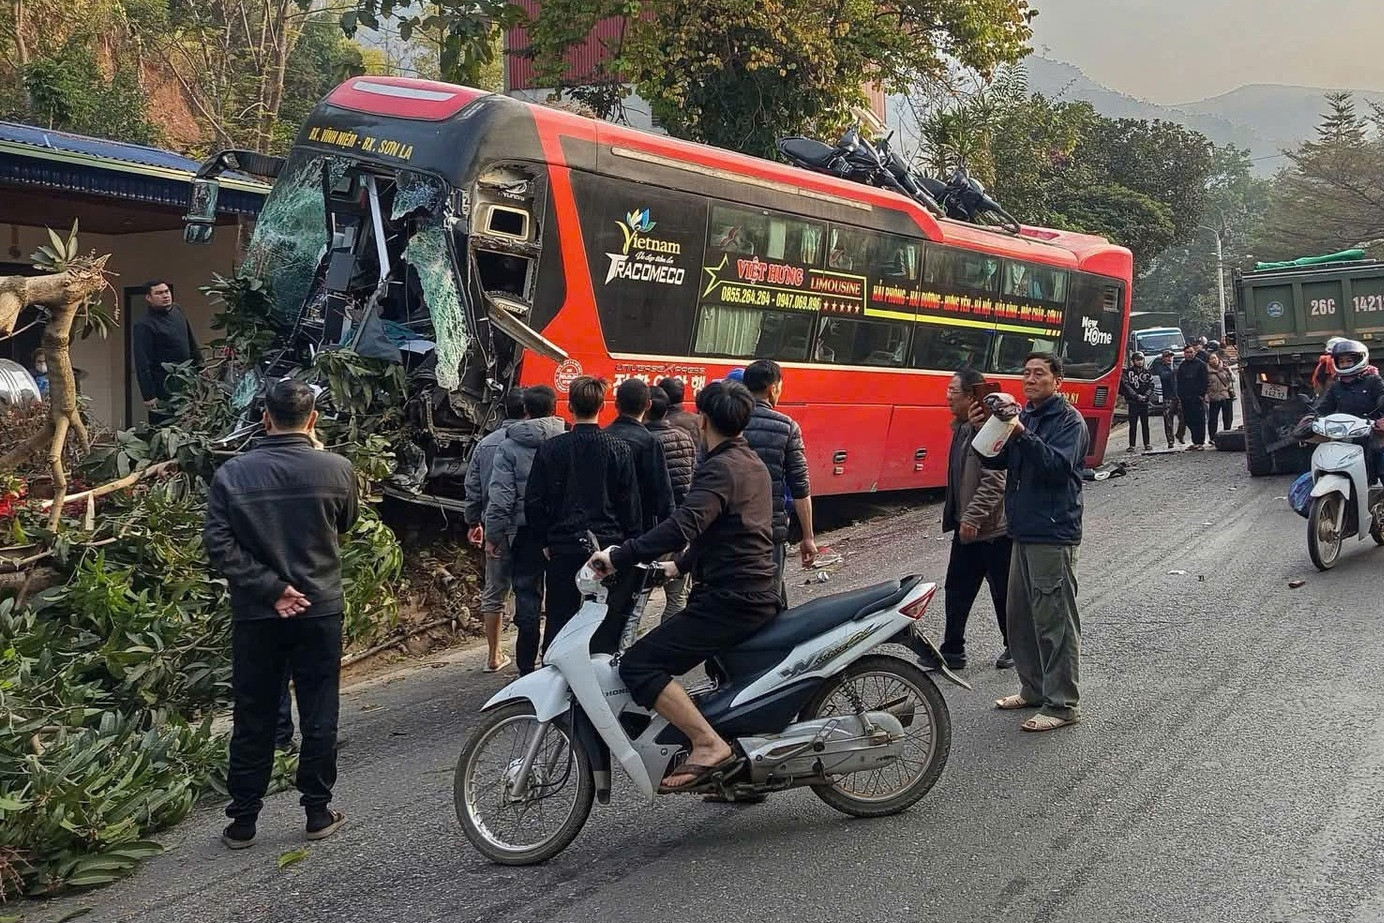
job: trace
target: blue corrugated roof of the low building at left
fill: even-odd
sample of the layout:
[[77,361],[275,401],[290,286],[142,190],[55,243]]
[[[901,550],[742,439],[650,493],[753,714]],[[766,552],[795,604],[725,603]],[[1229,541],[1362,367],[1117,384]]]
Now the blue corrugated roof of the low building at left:
[[[0,181],[181,208],[198,167],[162,148],[0,122]],[[263,183],[223,174],[217,212],[259,214],[267,194]]]

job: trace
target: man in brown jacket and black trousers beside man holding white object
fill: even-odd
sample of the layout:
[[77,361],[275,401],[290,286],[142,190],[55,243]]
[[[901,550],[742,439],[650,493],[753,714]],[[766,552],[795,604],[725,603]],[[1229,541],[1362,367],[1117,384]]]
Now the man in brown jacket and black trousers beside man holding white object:
[[952,533],[952,551],[947,562],[947,632],[941,652],[952,670],[966,667],[966,620],[981,581],[990,583],[999,637],[1005,639],[1005,652],[995,667],[1014,666],[1005,625],[1010,555],[1010,540],[1005,534],[1005,472],[983,468],[980,457],[970,451],[974,429],[967,415],[972,403],[980,400],[978,389],[984,383],[980,372],[963,368],[947,386],[947,403],[955,419],[943,506],[943,531]]

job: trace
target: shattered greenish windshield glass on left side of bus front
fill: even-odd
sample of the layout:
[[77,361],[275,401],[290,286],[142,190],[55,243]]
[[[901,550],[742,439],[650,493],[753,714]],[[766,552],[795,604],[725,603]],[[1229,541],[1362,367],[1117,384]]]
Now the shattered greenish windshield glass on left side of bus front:
[[292,321],[327,250],[322,166],[328,156],[293,152],[255,223],[245,270],[274,286],[280,318]]

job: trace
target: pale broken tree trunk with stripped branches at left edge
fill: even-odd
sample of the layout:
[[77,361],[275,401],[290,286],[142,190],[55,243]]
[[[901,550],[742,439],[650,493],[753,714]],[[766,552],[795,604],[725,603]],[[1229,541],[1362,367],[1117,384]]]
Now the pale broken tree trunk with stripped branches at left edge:
[[87,448],[87,430],[78,410],[78,382],[72,374],[72,322],[89,298],[105,288],[107,256],[72,260],[62,273],[48,275],[0,277],[0,336],[14,332],[15,320],[26,304],[48,309],[43,327],[43,353],[48,360],[48,422],[21,446],[0,458],[0,472],[14,469],[47,444],[53,470],[53,511],[48,527],[62,520],[62,502],[68,493],[68,473],[62,468],[62,450],[68,432]]

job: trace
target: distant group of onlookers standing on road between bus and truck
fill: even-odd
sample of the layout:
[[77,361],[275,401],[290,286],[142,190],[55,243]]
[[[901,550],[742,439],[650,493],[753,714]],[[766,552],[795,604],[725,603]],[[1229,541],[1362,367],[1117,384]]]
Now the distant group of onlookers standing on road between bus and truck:
[[1163,435],[1168,448],[1186,446],[1187,451],[1203,451],[1217,432],[1230,430],[1235,423],[1235,371],[1217,340],[1200,336],[1182,347],[1182,360],[1172,349],[1146,364],[1147,357],[1129,354],[1129,367],[1120,381],[1120,393],[1129,412],[1129,448],[1138,450],[1143,436],[1143,451],[1151,451],[1149,418],[1163,417]]

